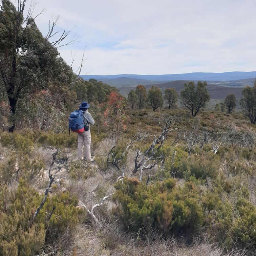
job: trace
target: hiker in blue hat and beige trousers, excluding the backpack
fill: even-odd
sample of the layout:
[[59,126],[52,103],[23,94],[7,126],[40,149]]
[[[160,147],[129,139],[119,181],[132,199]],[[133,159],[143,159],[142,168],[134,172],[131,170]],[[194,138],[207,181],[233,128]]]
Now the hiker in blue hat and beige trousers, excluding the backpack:
[[78,159],[84,159],[83,157],[83,146],[85,148],[85,158],[86,161],[95,163],[91,158],[91,132],[90,132],[90,124],[94,125],[94,120],[91,114],[88,112],[88,108],[90,105],[83,101],[81,105],[79,105],[79,110],[83,110],[83,121],[84,121],[84,132],[78,133]]

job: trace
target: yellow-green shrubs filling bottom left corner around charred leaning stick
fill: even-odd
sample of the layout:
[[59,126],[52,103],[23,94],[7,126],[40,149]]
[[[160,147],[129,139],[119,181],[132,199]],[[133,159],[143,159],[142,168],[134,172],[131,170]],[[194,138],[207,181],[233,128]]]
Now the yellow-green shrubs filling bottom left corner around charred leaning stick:
[[[81,210],[76,209],[78,200],[68,193],[47,197],[31,224],[42,198],[23,179],[17,190],[7,185],[0,188],[0,255],[39,254],[45,242],[54,243],[77,225]],[[49,219],[53,206],[56,209]]]

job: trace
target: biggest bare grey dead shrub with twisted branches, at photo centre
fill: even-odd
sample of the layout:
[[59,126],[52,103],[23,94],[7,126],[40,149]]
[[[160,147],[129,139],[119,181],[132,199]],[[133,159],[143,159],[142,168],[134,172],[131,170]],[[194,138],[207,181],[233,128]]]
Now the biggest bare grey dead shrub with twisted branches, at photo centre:
[[[150,170],[155,167],[160,159],[163,159],[164,156],[156,156],[158,150],[162,147],[165,140],[167,140],[167,135],[169,132],[175,130],[169,129],[172,120],[165,119],[165,125],[161,127],[163,128],[162,133],[156,137],[154,135],[153,142],[150,147],[143,153],[140,149],[137,150],[137,154],[135,157],[135,167],[133,169],[133,174],[136,174],[137,170],[140,170],[139,180],[142,181],[142,172],[143,170]],[[150,162],[150,163],[149,163]],[[148,164],[149,163],[149,164]]]

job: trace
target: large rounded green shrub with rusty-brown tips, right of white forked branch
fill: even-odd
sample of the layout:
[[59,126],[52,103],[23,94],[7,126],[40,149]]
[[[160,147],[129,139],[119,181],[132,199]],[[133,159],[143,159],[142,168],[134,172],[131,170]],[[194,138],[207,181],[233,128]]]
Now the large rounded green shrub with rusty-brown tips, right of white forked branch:
[[146,186],[135,178],[115,184],[113,200],[125,227],[133,232],[156,228],[160,232],[193,229],[203,222],[199,189],[191,182],[175,187],[173,178]]

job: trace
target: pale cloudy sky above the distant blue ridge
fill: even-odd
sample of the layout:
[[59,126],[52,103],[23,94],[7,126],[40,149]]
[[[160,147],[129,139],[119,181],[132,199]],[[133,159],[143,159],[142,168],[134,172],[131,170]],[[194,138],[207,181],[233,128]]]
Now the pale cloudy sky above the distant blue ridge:
[[81,74],[256,70],[255,0],[38,0],[34,13],[43,8],[43,35],[59,15],[57,29],[80,37],[59,52],[69,65],[76,53],[76,71],[85,48]]

